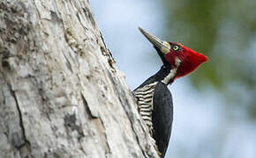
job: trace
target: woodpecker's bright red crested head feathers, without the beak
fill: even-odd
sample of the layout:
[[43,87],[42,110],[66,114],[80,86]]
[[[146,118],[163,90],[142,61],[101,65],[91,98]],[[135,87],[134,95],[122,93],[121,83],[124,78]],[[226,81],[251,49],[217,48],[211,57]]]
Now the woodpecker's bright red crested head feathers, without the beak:
[[175,79],[188,75],[198,68],[200,64],[207,61],[207,56],[197,53],[188,47],[179,43],[169,43],[170,48],[167,54],[164,54],[166,61],[172,66],[177,66],[176,60],[180,60]]

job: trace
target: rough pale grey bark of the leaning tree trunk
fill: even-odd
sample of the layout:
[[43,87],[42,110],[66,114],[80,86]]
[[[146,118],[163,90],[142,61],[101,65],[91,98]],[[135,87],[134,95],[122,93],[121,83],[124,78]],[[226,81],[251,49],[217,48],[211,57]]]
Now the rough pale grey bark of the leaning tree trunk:
[[0,157],[157,157],[88,1],[1,0]]

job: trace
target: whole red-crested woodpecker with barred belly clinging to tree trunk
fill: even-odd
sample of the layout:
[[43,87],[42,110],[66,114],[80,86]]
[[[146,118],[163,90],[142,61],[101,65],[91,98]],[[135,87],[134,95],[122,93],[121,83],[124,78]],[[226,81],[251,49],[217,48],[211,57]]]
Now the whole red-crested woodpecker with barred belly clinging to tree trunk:
[[139,28],[153,44],[162,59],[162,67],[134,90],[141,118],[154,138],[163,158],[169,144],[173,119],[173,104],[167,86],[177,78],[188,75],[207,61],[207,57],[177,42],[167,42]]

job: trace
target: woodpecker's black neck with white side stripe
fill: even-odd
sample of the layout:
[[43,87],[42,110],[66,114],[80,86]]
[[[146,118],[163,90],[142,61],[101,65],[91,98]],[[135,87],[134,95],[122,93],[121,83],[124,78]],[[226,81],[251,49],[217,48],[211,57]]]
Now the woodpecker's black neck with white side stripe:
[[162,82],[166,85],[173,83],[176,72],[177,68],[171,68],[171,65],[163,65],[156,74],[149,77],[144,83],[139,85],[137,89],[144,87],[147,84],[155,82]]

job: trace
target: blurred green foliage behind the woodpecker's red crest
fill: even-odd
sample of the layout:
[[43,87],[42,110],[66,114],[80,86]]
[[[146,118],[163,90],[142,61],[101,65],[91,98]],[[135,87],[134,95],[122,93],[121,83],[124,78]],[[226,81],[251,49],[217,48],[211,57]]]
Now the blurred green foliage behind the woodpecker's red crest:
[[[256,118],[256,1],[165,0],[166,39],[206,54],[209,61],[191,75],[226,94]],[[233,90],[236,90],[234,97]],[[245,97],[246,96],[246,97]],[[233,102],[232,102],[233,101]]]

